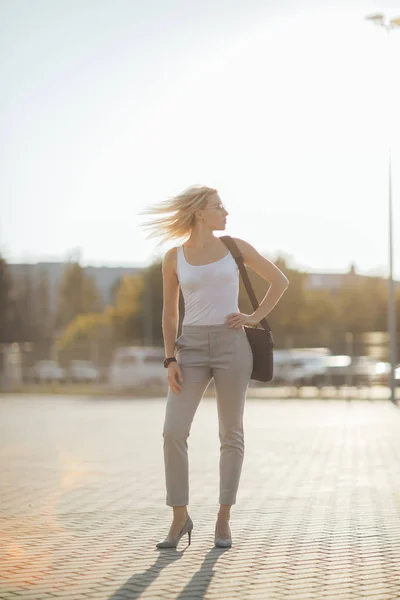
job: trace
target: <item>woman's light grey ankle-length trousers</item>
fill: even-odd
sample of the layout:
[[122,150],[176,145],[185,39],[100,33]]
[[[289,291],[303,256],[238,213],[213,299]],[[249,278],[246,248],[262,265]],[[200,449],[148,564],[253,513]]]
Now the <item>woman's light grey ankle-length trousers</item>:
[[187,438],[204,391],[214,378],[220,439],[220,504],[235,504],[244,455],[243,411],[253,354],[242,327],[184,325],[176,340],[183,389],[169,388],[163,428],[166,504],[189,504]]

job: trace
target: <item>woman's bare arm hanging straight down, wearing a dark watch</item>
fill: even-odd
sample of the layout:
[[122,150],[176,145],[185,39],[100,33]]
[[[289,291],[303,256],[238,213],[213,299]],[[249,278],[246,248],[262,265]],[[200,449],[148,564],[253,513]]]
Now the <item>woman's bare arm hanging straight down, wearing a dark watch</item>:
[[166,252],[162,265],[163,311],[162,331],[165,356],[174,356],[179,323],[179,281],[176,275],[176,248]]

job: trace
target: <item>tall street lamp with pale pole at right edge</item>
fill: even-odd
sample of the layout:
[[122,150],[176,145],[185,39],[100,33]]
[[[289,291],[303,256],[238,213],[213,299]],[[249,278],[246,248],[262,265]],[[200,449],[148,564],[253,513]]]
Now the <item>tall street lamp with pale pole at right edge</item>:
[[[385,29],[388,34],[388,42],[390,40],[390,32],[393,29],[400,28],[400,17],[388,19],[385,15],[376,14],[365,17],[367,21],[371,21],[374,25],[379,25]],[[390,347],[390,399],[396,404],[396,363],[397,363],[397,343],[396,343],[396,296],[393,280],[393,206],[392,206],[392,155],[389,143],[389,280],[388,280],[388,332],[389,332],[389,347]]]

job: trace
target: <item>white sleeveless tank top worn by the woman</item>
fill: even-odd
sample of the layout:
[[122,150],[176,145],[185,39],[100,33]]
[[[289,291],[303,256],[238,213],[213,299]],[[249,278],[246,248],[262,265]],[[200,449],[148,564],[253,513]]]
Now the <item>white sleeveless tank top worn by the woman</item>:
[[185,304],[182,325],[221,325],[239,312],[239,269],[228,252],[208,265],[191,265],[177,247],[177,274]]

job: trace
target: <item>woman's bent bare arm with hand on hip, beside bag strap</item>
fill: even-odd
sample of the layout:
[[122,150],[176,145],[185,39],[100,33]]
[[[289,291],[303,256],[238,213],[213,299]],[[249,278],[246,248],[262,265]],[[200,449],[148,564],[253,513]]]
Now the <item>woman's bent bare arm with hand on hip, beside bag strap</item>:
[[245,264],[271,284],[260,302],[260,306],[253,313],[256,322],[259,323],[271,312],[283,296],[289,286],[289,280],[273,262],[262,256],[251,244],[239,238],[234,239],[243,254]]

